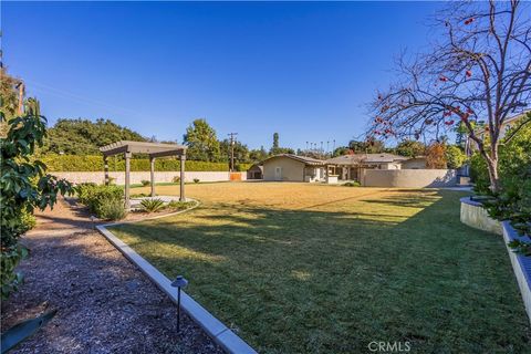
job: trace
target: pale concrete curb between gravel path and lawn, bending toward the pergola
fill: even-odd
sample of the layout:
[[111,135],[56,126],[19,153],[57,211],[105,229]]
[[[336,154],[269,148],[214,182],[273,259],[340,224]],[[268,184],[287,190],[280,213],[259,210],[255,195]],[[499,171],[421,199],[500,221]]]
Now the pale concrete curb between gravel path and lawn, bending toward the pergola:
[[[160,273],[155,267],[153,267],[148,261],[143,257],[136,253],[124,241],[114,236],[107,227],[138,222],[144,220],[153,220],[162,217],[168,217],[185,211],[189,211],[194,208],[197,208],[199,202],[187,210],[181,210],[165,216],[157,216],[153,218],[146,218],[136,221],[124,221],[115,223],[105,223],[96,226],[96,229],[102,233],[118,251],[121,251],[125,258],[127,258],[133,264],[138,267],[138,269],[146,274],[163,292],[165,292],[174,303],[177,303],[177,290],[171,287],[171,281]],[[256,354],[257,352],[247,344],[242,339],[240,339],[235,332],[227,327],[221,321],[216,319],[210,312],[202,308],[197,301],[195,301],[186,292],[180,292],[180,305],[183,310],[207,334],[218,343],[226,352],[235,354]]]

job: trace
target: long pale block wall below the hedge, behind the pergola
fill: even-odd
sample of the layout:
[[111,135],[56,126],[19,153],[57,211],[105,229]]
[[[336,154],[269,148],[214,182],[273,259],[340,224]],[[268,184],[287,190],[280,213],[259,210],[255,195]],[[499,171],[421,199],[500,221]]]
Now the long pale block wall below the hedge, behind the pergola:
[[[100,173],[50,173],[60,178],[65,178],[71,183],[104,183],[104,174]],[[246,173],[240,173],[241,180],[247,179]],[[114,183],[117,185],[125,185],[125,173],[123,171],[110,171],[108,176],[114,178]],[[175,176],[180,176],[179,171],[155,171],[155,183],[168,183],[173,181]],[[200,181],[226,181],[230,180],[229,171],[186,171],[185,181],[194,181],[197,178]],[[131,184],[139,184],[142,180],[149,180],[149,171],[132,171]]]

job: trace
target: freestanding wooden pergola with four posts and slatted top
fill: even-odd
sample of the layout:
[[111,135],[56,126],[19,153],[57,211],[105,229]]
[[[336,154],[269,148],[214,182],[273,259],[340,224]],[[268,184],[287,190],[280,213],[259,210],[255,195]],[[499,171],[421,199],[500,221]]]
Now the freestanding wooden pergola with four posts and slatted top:
[[105,171],[105,185],[108,185],[108,157],[123,154],[125,157],[125,207],[131,207],[129,188],[131,188],[131,158],[133,154],[146,154],[149,156],[150,165],[150,183],[152,197],[155,197],[155,158],[178,156],[180,159],[180,197],[179,200],[185,201],[185,160],[186,146],[177,144],[159,144],[145,142],[121,140],[100,147],[103,154],[103,164]]

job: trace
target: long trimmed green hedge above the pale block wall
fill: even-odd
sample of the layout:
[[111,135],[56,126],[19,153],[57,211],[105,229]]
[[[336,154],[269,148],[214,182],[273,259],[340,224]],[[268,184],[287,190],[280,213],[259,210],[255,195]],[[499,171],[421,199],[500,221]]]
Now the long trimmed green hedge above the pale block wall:
[[[103,157],[98,155],[44,155],[40,159],[48,166],[49,171],[103,171]],[[186,162],[186,170],[190,171],[226,171],[229,170],[227,163]],[[239,170],[247,170],[250,164],[237,165]],[[125,170],[125,160],[118,157],[108,158],[110,171]],[[132,171],[149,170],[148,158],[132,158]],[[176,171],[180,170],[180,162],[175,158],[155,159],[155,170]]]

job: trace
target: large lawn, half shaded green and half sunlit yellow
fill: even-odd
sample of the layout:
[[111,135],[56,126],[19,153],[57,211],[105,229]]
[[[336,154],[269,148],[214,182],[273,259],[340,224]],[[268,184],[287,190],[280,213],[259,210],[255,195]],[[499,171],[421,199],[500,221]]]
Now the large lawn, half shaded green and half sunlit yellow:
[[[501,237],[456,191],[187,186],[202,206],[112,229],[260,353],[524,353],[531,329]],[[166,186],[159,194],[178,194]]]

